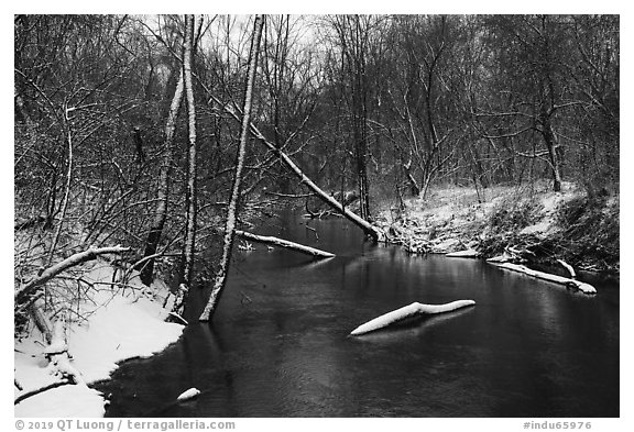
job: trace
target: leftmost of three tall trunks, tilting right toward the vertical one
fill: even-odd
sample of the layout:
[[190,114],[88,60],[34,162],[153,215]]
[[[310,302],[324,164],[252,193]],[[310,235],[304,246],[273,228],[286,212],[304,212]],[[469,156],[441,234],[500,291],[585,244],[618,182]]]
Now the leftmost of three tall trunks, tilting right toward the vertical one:
[[[158,190],[156,191],[156,199],[158,202],[154,212],[154,221],[152,222],[152,228],[150,229],[147,241],[145,242],[144,257],[156,254],[156,248],[158,247],[161,235],[163,234],[163,226],[165,225],[165,220],[167,218],[167,197],[170,196],[170,175],[172,171],[174,131],[176,130],[176,118],[178,117],[181,102],[183,100],[183,68],[181,68],[178,84],[176,85],[176,90],[174,90],[174,98],[172,99],[170,113],[167,114],[167,122],[165,124],[165,153],[163,154],[161,171],[158,174]],[[153,280],[153,275],[154,258],[151,258],[145,262],[141,268],[141,281],[150,286]]]

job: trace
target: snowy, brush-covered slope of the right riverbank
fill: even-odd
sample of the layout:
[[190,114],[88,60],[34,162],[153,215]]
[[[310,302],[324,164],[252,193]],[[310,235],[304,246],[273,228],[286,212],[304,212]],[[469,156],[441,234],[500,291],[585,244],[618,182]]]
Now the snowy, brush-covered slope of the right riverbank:
[[565,182],[494,186],[476,190],[438,187],[428,198],[384,206],[378,223],[391,241],[412,253],[472,250],[483,258],[500,255],[539,265],[562,259],[575,268],[620,272],[619,193],[588,192]]

